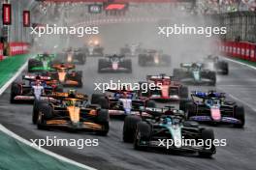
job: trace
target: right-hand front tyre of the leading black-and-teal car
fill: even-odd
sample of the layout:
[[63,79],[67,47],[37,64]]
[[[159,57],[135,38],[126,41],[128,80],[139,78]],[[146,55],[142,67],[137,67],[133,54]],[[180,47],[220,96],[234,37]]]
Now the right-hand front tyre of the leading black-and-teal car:
[[213,140],[214,140],[214,133],[212,129],[208,129],[208,128],[203,128],[201,131],[201,137],[204,140],[205,144],[207,143],[206,141],[210,140],[210,146],[206,146],[204,147],[204,149],[202,151],[200,151],[198,154],[199,156],[202,157],[210,157],[213,154],[216,153],[216,148],[213,144]]

